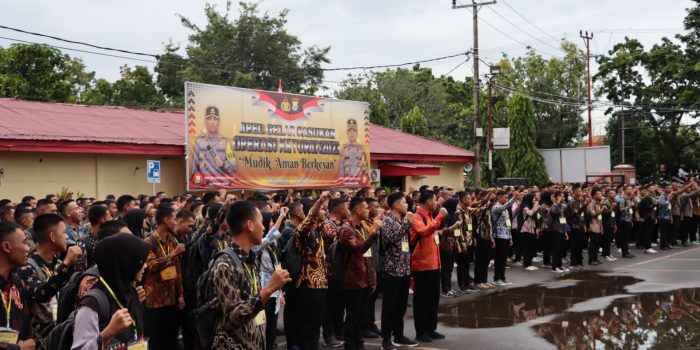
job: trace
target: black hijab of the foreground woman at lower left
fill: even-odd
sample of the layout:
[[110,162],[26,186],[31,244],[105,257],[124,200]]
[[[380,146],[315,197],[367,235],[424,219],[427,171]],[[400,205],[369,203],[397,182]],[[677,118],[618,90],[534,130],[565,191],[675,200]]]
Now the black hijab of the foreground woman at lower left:
[[[138,335],[143,334],[145,311],[134,287],[134,279],[146,263],[150,249],[151,246],[144,240],[128,234],[107,237],[97,243],[97,249],[95,249],[95,260],[100,276],[107,282],[122,306],[129,309],[129,314],[136,321]],[[102,282],[97,283],[95,288],[105,292],[110,299],[112,310],[119,307]],[[124,332],[122,335],[126,338],[123,341],[133,340],[131,332]]]

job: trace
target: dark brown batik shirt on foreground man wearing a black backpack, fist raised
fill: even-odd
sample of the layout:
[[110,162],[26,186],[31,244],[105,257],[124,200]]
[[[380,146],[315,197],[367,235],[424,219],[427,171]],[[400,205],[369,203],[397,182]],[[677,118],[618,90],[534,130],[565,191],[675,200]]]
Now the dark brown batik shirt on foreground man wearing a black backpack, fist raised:
[[264,315],[265,304],[260,299],[257,278],[260,271],[254,254],[235,244],[231,249],[238,255],[239,264],[223,254],[212,266],[214,296],[223,316],[218,319],[212,349],[264,350],[265,319],[260,313]]

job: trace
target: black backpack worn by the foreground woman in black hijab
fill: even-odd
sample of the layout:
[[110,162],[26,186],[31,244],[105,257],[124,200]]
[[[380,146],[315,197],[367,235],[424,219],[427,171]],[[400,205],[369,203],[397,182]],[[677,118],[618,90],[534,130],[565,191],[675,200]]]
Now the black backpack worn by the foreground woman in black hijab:
[[[83,298],[92,297],[97,301],[97,315],[100,330],[105,329],[112,318],[110,312],[109,299],[100,289],[92,289]],[[72,311],[65,321],[57,323],[46,337],[46,349],[48,350],[70,350],[73,345],[73,327],[75,326],[75,313]]]

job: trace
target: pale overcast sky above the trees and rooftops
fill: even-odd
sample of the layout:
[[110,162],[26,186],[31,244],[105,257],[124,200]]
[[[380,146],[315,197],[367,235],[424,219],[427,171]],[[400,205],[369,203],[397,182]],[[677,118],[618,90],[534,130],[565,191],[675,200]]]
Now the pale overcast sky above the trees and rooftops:
[[[14,0],[3,3],[0,24],[101,46],[160,53],[169,39],[187,45],[189,32],[176,14],[204,25],[205,3]],[[225,1],[211,3],[225,8]],[[689,0],[499,0],[479,12],[480,51],[486,61],[498,60],[501,53],[522,55],[526,45],[545,57],[561,56],[561,38],[583,47],[578,35],[581,29],[595,33],[592,54],[605,53],[625,36],[636,37],[648,47],[662,36],[681,31],[685,9],[692,5]],[[452,10],[450,0],[267,0],[261,8],[272,13],[290,9],[289,32],[297,35],[304,46],[330,46],[329,67],[404,63],[455,54],[473,45],[471,13]],[[0,36],[94,50],[5,29],[0,29]],[[11,43],[0,39],[3,47]],[[110,81],[119,78],[119,66],[123,64],[152,67],[128,59],[65,52],[82,57],[97,77]],[[426,66],[439,75],[452,71],[462,61],[457,57]],[[595,72],[595,65],[592,68]],[[335,86],[346,74],[328,72],[327,85]],[[471,74],[471,62],[451,73],[456,79]],[[604,119],[600,115],[595,119],[594,129],[602,131]]]

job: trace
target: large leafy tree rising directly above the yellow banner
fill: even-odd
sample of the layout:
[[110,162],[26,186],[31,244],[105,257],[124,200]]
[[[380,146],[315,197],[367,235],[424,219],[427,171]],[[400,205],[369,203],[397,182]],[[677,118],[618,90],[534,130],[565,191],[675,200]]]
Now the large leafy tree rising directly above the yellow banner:
[[[183,70],[160,65],[163,87],[183,86],[184,80],[190,80],[274,90],[282,79],[285,91],[313,94],[322,86],[321,65],[330,62],[330,47],[302,48],[301,41],[287,31],[288,10],[273,16],[260,13],[257,3],[241,2],[240,14],[232,19],[231,7],[232,3],[227,2],[222,13],[207,4],[207,24],[203,28],[180,16],[182,24],[192,31],[186,48],[187,64]],[[164,56],[168,55],[174,52],[166,46]]]

